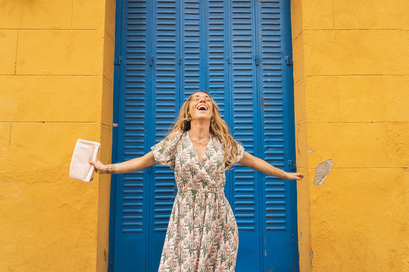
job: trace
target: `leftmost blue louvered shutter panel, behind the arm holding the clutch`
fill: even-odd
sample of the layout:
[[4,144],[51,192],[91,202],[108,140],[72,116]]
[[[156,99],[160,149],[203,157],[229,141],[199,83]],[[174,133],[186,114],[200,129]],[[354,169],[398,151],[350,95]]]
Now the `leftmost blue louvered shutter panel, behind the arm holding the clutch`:
[[[148,152],[150,5],[146,1],[124,3],[123,61],[120,64],[118,161]],[[115,270],[132,267],[135,256],[147,269],[148,169],[117,175],[115,213]]]

